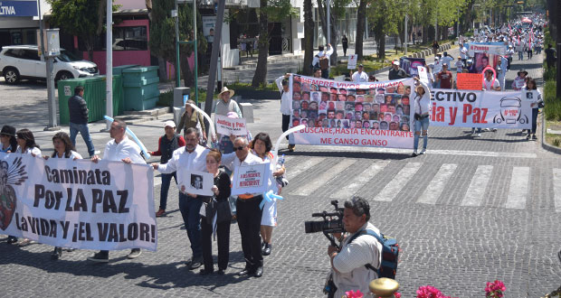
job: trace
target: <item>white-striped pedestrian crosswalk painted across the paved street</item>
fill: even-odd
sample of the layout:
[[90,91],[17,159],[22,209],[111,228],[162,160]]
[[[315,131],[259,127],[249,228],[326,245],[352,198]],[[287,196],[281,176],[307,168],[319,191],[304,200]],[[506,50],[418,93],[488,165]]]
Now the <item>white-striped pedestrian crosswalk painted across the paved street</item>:
[[[326,170],[325,164],[330,164]],[[364,164],[368,163],[368,164]],[[323,164],[323,166],[322,166]],[[352,175],[351,169],[357,168]],[[532,168],[491,164],[420,163],[337,157],[296,157],[287,163],[290,185],[285,194],[326,193],[345,200],[360,194],[367,200],[411,201],[415,204],[498,207],[525,210],[532,200],[547,200],[561,213],[561,169],[547,182],[552,198],[537,198]],[[508,170],[508,171],[507,171]],[[309,172],[317,175],[309,178]],[[306,176],[300,174],[308,173]],[[388,178],[389,177],[389,178]],[[300,179],[299,179],[300,178]],[[391,179],[390,179],[391,178]],[[382,181],[376,184],[376,181]],[[540,186],[541,187],[541,186]],[[504,190],[504,191],[503,191]],[[324,192],[321,192],[324,191]]]

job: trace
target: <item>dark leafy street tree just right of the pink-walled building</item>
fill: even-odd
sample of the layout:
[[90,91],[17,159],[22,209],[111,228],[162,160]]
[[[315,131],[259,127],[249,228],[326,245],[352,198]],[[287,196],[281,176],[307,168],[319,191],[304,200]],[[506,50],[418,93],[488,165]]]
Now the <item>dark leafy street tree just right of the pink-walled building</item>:
[[[159,0],[152,2],[150,12],[152,22],[150,23],[150,41],[148,45],[153,55],[163,58],[165,61],[176,61],[176,20],[171,17],[169,12],[176,8],[175,0]],[[193,41],[193,10],[191,5],[179,5],[179,40]],[[200,14],[197,17],[197,35],[203,36],[202,19]],[[197,51],[206,51],[206,39],[197,39]],[[186,87],[193,87],[195,75],[189,67],[187,57],[191,57],[194,52],[193,44],[180,44],[179,57],[180,68]],[[195,57],[198,59],[198,57]],[[199,64],[200,65],[200,64]]]

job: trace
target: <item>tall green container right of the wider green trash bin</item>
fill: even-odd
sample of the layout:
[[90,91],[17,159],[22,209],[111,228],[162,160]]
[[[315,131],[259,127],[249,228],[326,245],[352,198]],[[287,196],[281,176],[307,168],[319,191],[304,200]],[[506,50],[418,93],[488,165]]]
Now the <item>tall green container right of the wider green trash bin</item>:
[[123,70],[125,110],[142,111],[156,107],[159,99],[157,66],[140,66]]

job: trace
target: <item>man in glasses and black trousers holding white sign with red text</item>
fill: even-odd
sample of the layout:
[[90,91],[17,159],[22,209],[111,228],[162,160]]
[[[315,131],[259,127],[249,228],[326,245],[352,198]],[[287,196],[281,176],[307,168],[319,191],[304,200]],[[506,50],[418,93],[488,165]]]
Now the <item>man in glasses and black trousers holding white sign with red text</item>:
[[[262,159],[250,152],[249,142],[239,136],[233,140],[234,154],[224,154],[222,163],[230,170],[240,166],[263,163]],[[242,250],[245,268],[238,275],[263,275],[263,256],[261,255],[261,208],[263,200],[260,193],[246,193],[236,200],[238,228],[242,235]]]

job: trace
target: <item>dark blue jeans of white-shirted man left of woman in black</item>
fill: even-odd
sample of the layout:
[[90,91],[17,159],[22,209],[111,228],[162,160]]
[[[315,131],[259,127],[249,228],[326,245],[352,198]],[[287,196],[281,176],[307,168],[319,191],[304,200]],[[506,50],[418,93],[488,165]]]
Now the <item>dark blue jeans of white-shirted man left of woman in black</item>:
[[199,215],[202,205],[203,200],[192,198],[179,192],[179,210],[181,211],[185,228],[187,228],[187,237],[189,237],[189,242],[191,242],[194,258],[203,256],[203,249],[201,248],[201,215]]

